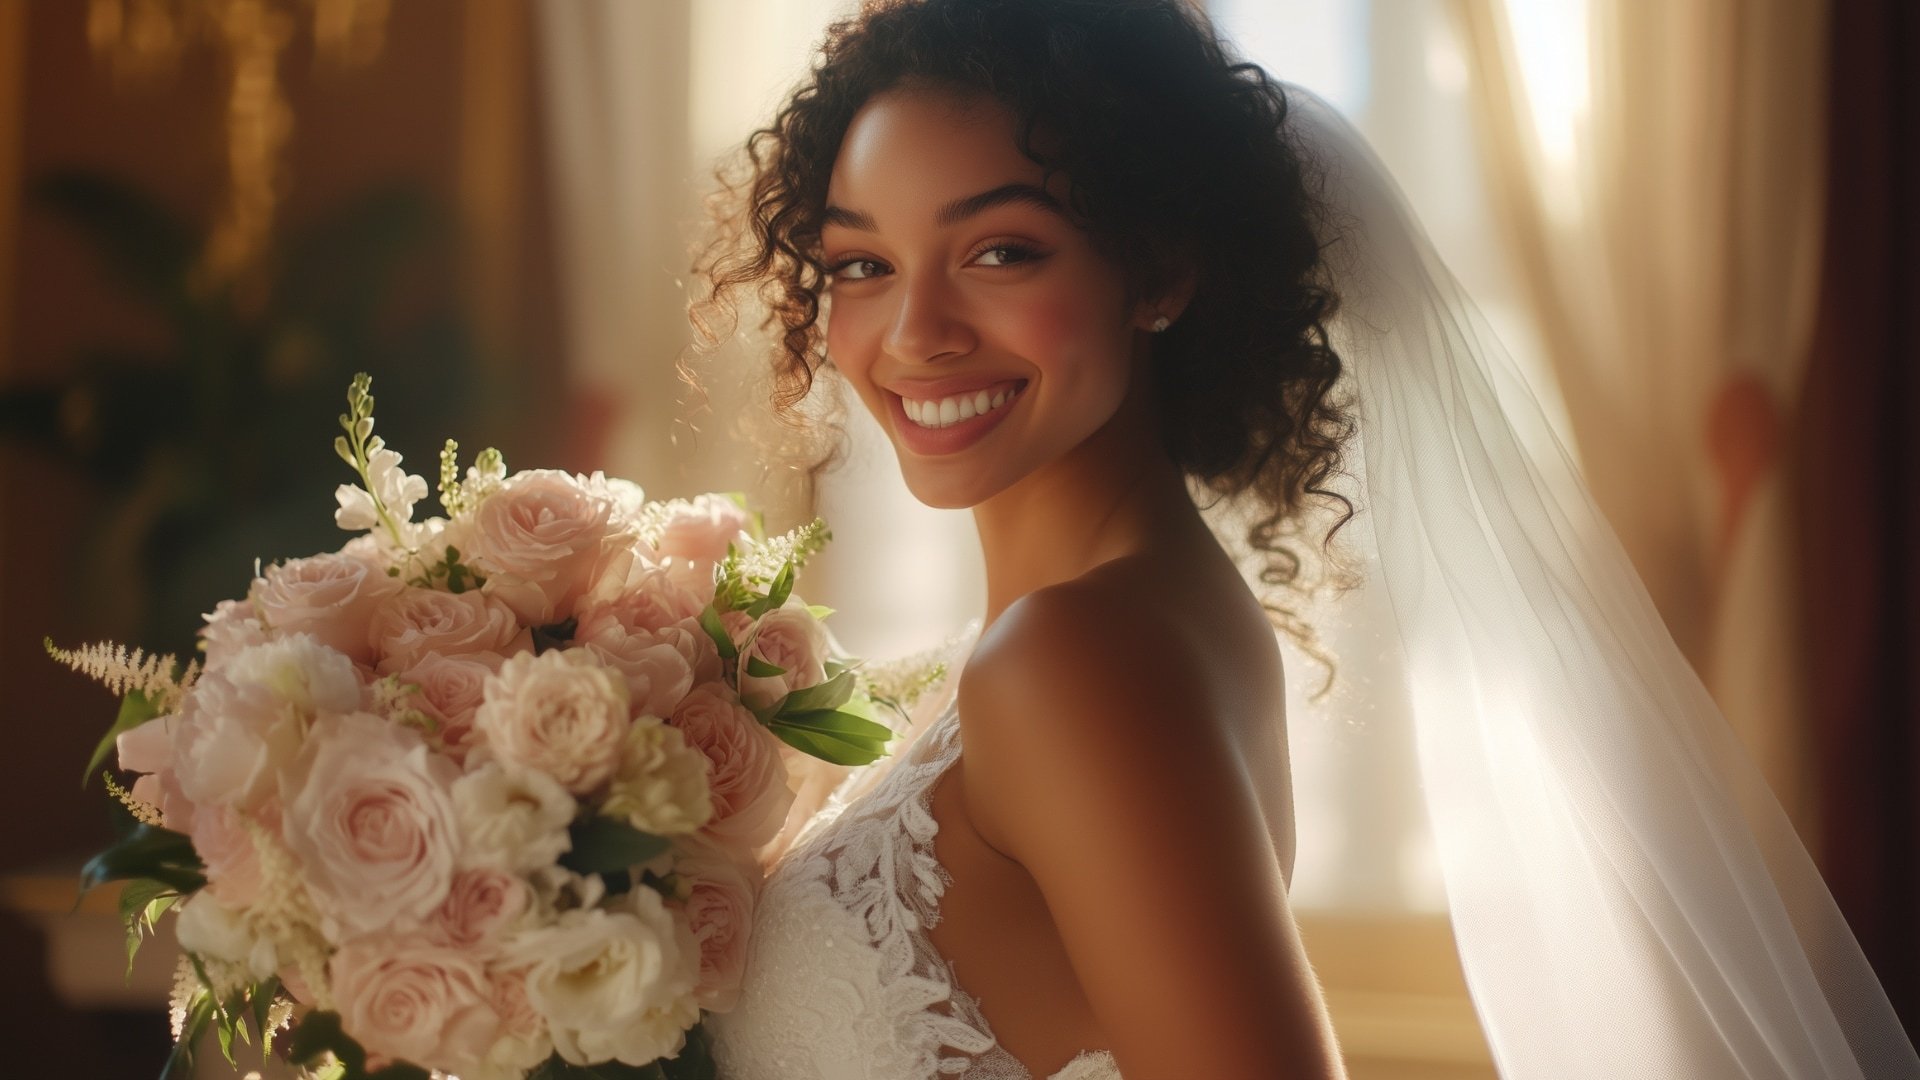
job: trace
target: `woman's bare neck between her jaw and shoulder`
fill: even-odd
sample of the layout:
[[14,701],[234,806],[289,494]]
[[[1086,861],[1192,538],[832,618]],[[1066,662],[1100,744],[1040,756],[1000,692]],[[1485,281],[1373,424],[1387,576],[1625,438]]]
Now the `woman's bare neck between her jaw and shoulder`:
[[1140,373],[1114,419],[1069,454],[973,507],[991,626],[1033,590],[1190,538],[1206,523],[1167,455]]

